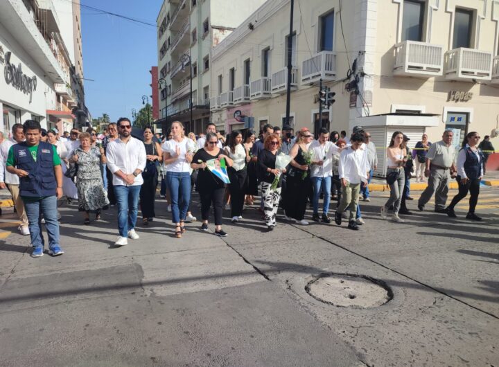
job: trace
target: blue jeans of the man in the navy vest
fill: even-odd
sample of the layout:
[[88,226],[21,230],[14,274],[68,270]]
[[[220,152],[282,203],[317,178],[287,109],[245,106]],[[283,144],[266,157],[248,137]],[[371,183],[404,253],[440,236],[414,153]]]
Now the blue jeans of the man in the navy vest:
[[49,196],[36,202],[24,202],[31,244],[33,247],[44,247],[42,235],[42,215],[45,218],[45,228],[49,235],[49,249],[59,246],[59,222],[57,220],[57,197]]

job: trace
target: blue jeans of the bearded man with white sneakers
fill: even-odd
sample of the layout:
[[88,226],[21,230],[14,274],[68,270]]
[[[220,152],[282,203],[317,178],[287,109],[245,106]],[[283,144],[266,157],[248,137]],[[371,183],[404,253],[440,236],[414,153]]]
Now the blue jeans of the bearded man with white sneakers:
[[137,211],[139,211],[140,185],[114,186],[116,204],[118,204],[118,231],[121,237],[128,237],[128,231],[135,228]]

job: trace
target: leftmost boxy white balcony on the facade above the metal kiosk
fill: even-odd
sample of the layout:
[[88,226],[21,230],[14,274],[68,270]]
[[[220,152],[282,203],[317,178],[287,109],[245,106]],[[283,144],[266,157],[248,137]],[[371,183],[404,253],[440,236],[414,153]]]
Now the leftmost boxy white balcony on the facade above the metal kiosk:
[[444,73],[444,46],[404,41],[395,45],[394,75],[432,77]]

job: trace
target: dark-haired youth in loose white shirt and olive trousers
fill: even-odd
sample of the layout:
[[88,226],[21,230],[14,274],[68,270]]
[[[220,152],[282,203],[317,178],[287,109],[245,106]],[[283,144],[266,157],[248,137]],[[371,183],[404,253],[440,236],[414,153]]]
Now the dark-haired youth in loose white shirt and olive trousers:
[[342,223],[342,213],[349,208],[349,229],[358,230],[356,223],[357,204],[360,193],[360,185],[367,185],[367,172],[369,172],[369,161],[367,154],[361,150],[364,134],[354,132],[350,138],[351,146],[344,149],[340,154],[338,172],[342,182],[342,199],[335,213],[335,223]]

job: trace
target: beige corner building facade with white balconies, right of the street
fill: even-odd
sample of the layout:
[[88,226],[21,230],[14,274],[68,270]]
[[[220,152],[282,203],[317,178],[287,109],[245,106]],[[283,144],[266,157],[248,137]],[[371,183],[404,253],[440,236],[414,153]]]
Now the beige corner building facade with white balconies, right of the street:
[[[220,130],[244,127],[234,113],[252,116],[256,130],[283,125],[289,22],[290,1],[268,1],[213,49],[210,109]],[[423,132],[437,141],[453,129],[459,143],[497,127],[499,1],[300,0],[293,30],[295,130],[362,125],[386,146],[396,129],[414,144]],[[322,124],[321,79],[336,93]]]

